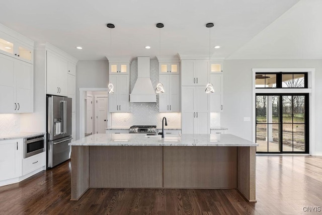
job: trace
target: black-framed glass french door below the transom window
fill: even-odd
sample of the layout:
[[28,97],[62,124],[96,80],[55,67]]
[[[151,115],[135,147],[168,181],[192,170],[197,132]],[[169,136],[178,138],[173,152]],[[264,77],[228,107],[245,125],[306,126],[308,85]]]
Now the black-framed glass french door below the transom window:
[[257,153],[308,153],[308,94],[256,94]]

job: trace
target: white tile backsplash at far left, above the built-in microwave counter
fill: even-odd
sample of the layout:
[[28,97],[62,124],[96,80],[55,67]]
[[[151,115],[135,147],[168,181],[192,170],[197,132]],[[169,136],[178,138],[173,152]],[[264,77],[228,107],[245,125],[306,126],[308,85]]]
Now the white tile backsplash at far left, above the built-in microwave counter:
[[20,114],[0,114],[0,134],[18,132],[20,132]]

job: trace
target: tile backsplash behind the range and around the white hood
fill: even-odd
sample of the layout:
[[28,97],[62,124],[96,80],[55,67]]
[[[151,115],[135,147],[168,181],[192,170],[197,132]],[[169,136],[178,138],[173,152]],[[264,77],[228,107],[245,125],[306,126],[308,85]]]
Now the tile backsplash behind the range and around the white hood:
[[[155,87],[159,81],[159,63],[150,60],[150,78],[152,86]],[[131,63],[130,91],[137,79],[137,60]],[[111,126],[128,128],[132,125],[156,125],[162,127],[162,118],[168,121],[167,128],[181,128],[181,113],[159,113],[158,96],[156,103],[130,103],[129,113],[112,113]]]

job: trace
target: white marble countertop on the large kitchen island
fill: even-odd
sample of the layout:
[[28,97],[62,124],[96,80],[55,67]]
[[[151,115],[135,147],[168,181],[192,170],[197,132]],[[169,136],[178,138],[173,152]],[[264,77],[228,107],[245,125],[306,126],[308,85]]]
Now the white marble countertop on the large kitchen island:
[[256,147],[255,142],[232,134],[182,134],[166,136],[146,134],[93,134],[68,144],[69,146],[213,146]]

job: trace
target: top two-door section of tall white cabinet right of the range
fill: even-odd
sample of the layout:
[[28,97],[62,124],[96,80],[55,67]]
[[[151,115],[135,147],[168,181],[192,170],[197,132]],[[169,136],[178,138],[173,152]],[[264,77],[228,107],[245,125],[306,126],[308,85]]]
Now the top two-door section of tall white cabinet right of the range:
[[208,74],[208,60],[181,60],[182,86],[206,86]]

